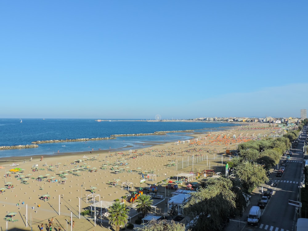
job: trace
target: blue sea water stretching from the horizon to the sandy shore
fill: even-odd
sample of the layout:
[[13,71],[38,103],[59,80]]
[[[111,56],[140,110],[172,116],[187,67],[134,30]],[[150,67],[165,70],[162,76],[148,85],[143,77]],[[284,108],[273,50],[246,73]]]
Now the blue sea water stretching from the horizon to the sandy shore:
[[[38,140],[101,138],[119,134],[147,134],[160,131],[211,132],[236,124],[187,121],[147,121],[141,119],[0,119],[0,146],[27,145]],[[0,157],[54,155],[91,152],[92,150],[126,151],[178,140],[190,140],[192,132],[168,132],[166,135],[120,136],[112,140],[93,140],[39,144],[37,148],[0,150]]]

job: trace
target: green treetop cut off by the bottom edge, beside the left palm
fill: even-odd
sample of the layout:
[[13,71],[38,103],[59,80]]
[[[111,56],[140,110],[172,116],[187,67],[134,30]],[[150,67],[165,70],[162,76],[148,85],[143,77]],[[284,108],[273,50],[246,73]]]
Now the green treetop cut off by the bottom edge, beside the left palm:
[[[185,231],[185,225],[183,223],[175,223],[173,220],[167,222],[162,221],[150,221],[148,225],[137,228],[140,231]],[[189,231],[190,229],[188,229]]]

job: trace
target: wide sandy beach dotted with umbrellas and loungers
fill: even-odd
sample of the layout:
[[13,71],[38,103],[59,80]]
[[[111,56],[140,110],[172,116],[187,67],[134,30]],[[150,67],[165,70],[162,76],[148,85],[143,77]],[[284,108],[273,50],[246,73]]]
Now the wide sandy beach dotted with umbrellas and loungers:
[[[82,212],[89,209],[92,196],[96,196],[95,201],[100,199],[112,203],[120,199],[121,202],[123,196],[135,192],[140,186],[148,188],[161,184],[165,178],[189,173],[192,168],[197,172],[214,168],[216,172],[222,172],[230,159],[225,155],[226,149],[233,150],[241,142],[277,132],[278,128],[269,127],[268,124],[252,123],[209,134],[196,133],[193,135],[195,139],[189,141],[160,144],[143,150],[59,153],[44,156],[42,160],[41,156],[26,157],[25,162],[25,157],[11,158],[19,160],[15,161],[17,166],[10,166],[13,162],[0,164],[0,188],[3,189],[0,194],[0,217],[13,221],[0,219],[0,226],[2,230],[6,230],[6,224],[10,230],[31,230],[31,226],[39,230],[38,226],[43,224],[43,229],[49,230],[48,220],[53,217],[52,230],[59,227],[70,230],[67,220],[72,215],[74,229],[108,230],[110,225],[106,222],[101,225],[88,217],[81,216],[79,219],[79,198]],[[10,172],[14,168],[23,170]],[[148,173],[155,176],[141,184],[142,173],[145,179]],[[129,191],[125,189],[128,184],[124,182],[129,182]],[[179,188],[184,189],[186,185]],[[164,195],[164,186],[159,186],[158,191]],[[128,202],[126,204],[129,205]],[[8,217],[11,212],[16,215]]]

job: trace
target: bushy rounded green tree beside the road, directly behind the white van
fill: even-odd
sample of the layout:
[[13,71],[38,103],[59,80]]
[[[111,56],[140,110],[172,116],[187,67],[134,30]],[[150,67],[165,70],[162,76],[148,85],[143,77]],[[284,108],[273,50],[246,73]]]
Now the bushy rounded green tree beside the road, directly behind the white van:
[[237,165],[235,172],[242,180],[243,188],[248,193],[251,193],[253,189],[258,187],[260,184],[269,181],[265,169],[261,165],[250,163],[249,161]]

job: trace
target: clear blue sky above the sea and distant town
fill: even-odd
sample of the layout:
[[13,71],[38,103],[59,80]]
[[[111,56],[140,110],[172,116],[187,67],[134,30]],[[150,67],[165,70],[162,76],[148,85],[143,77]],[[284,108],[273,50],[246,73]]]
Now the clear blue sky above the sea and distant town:
[[1,118],[299,117],[307,1],[2,1]]

